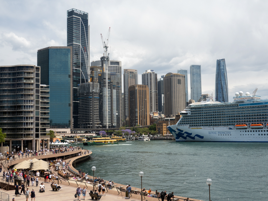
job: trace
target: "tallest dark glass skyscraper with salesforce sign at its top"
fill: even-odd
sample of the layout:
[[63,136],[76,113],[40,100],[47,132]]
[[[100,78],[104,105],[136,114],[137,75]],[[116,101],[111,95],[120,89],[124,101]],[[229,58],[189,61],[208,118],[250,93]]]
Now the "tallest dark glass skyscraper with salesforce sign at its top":
[[77,9],[67,11],[67,46],[72,46],[73,83],[73,128],[78,128],[78,84],[88,81],[89,70],[89,26],[88,13]]

